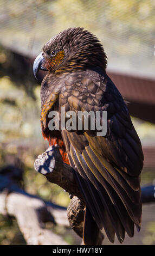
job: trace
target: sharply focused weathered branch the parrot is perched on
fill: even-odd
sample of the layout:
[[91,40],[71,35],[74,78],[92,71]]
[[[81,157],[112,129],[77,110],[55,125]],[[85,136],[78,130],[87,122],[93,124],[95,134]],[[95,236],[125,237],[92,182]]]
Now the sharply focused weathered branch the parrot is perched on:
[[[74,178],[74,170],[62,161],[59,147],[48,148],[46,152],[38,156],[34,166],[37,172],[45,175],[50,182],[59,185],[74,196],[68,206],[67,215],[70,227],[82,237],[85,201]],[[142,188],[141,199],[143,203],[154,202],[154,187]],[[104,236],[100,233],[99,244],[103,238]]]

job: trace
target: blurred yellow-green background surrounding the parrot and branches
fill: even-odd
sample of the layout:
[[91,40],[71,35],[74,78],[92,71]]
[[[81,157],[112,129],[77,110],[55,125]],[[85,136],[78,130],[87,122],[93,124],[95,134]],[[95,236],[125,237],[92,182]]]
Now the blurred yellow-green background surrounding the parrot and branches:
[[[48,148],[40,127],[40,84],[33,61],[51,36],[68,27],[94,33],[108,57],[107,73],[127,100],[144,150],[141,186],[155,184],[155,1],[0,0],[0,167],[23,169],[24,189],[55,204],[68,193],[34,170]],[[143,224],[124,245],[155,245],[155,205],[143,205]],[[80,242],[65,228],[55,232]],[[25,245],[16,220],[0,215],[0,245]],[[104,244],[111,244],[105,238]],[[115,239],[115,244],[118,244]]]

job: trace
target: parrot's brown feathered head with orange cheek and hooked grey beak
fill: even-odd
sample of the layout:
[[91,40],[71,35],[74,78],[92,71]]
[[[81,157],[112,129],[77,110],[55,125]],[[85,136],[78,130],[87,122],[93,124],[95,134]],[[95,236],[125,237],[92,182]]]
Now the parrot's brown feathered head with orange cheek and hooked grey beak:
[[39,69],[49,72],[72,71],[99,66],[105,70],[107,58],[98,38],[83,28],[68,28],[53,36],[34,62],[34,75]]

